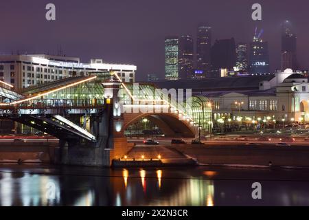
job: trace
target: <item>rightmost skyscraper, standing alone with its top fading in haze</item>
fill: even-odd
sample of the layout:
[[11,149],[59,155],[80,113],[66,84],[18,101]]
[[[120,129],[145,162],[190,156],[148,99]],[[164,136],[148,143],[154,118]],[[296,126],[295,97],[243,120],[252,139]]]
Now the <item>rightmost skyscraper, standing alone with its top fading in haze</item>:
[[288,68],[297,69],[297,36],[292,31],[292,24],[290,21],[284,21],[282,24],[281,41],[282,71]]

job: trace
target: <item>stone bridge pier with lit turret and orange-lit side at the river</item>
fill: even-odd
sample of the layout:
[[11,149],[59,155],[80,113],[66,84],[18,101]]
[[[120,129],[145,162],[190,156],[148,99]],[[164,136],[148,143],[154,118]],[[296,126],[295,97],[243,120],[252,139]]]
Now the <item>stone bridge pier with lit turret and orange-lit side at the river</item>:
[[56,149],[56,164],[80,166],[111,166],[113,159],[119,159],[133,147],[124,137],[124,118],[119,109],[119,82],[103,83],[105,88],[104,108],[91,120],[91,133],[96,142],[82,139],[60,139]]

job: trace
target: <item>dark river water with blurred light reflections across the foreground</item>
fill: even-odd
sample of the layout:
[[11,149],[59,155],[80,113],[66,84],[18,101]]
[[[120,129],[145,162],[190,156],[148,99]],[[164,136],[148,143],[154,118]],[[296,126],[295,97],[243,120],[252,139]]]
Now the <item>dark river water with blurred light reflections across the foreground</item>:
[[[0,164],[1,206],[309,206],[301,168]],[[262,199],[253,199],[254,182]]]

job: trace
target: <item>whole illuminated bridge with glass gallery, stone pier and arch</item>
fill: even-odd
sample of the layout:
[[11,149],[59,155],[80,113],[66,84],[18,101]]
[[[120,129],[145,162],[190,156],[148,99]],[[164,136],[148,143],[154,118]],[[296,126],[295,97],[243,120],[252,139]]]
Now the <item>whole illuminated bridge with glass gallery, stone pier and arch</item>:
[[167,137],[209,131],[205,97],[179,102],[151,84],[123,83],[116,72],[95,72],[16,92],[0,82],[0,119],[13,120],[59,138],[60,164],[109,166],[129,149],[124,131],[148,118]]

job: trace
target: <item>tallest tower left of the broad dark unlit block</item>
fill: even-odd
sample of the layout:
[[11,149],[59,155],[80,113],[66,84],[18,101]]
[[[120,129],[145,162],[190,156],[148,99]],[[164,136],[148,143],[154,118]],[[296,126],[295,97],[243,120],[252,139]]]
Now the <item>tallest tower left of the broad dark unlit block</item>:
[[211,27],[199,25],[196,41],[196,68],[203,71],[203,76],[210,71]]

